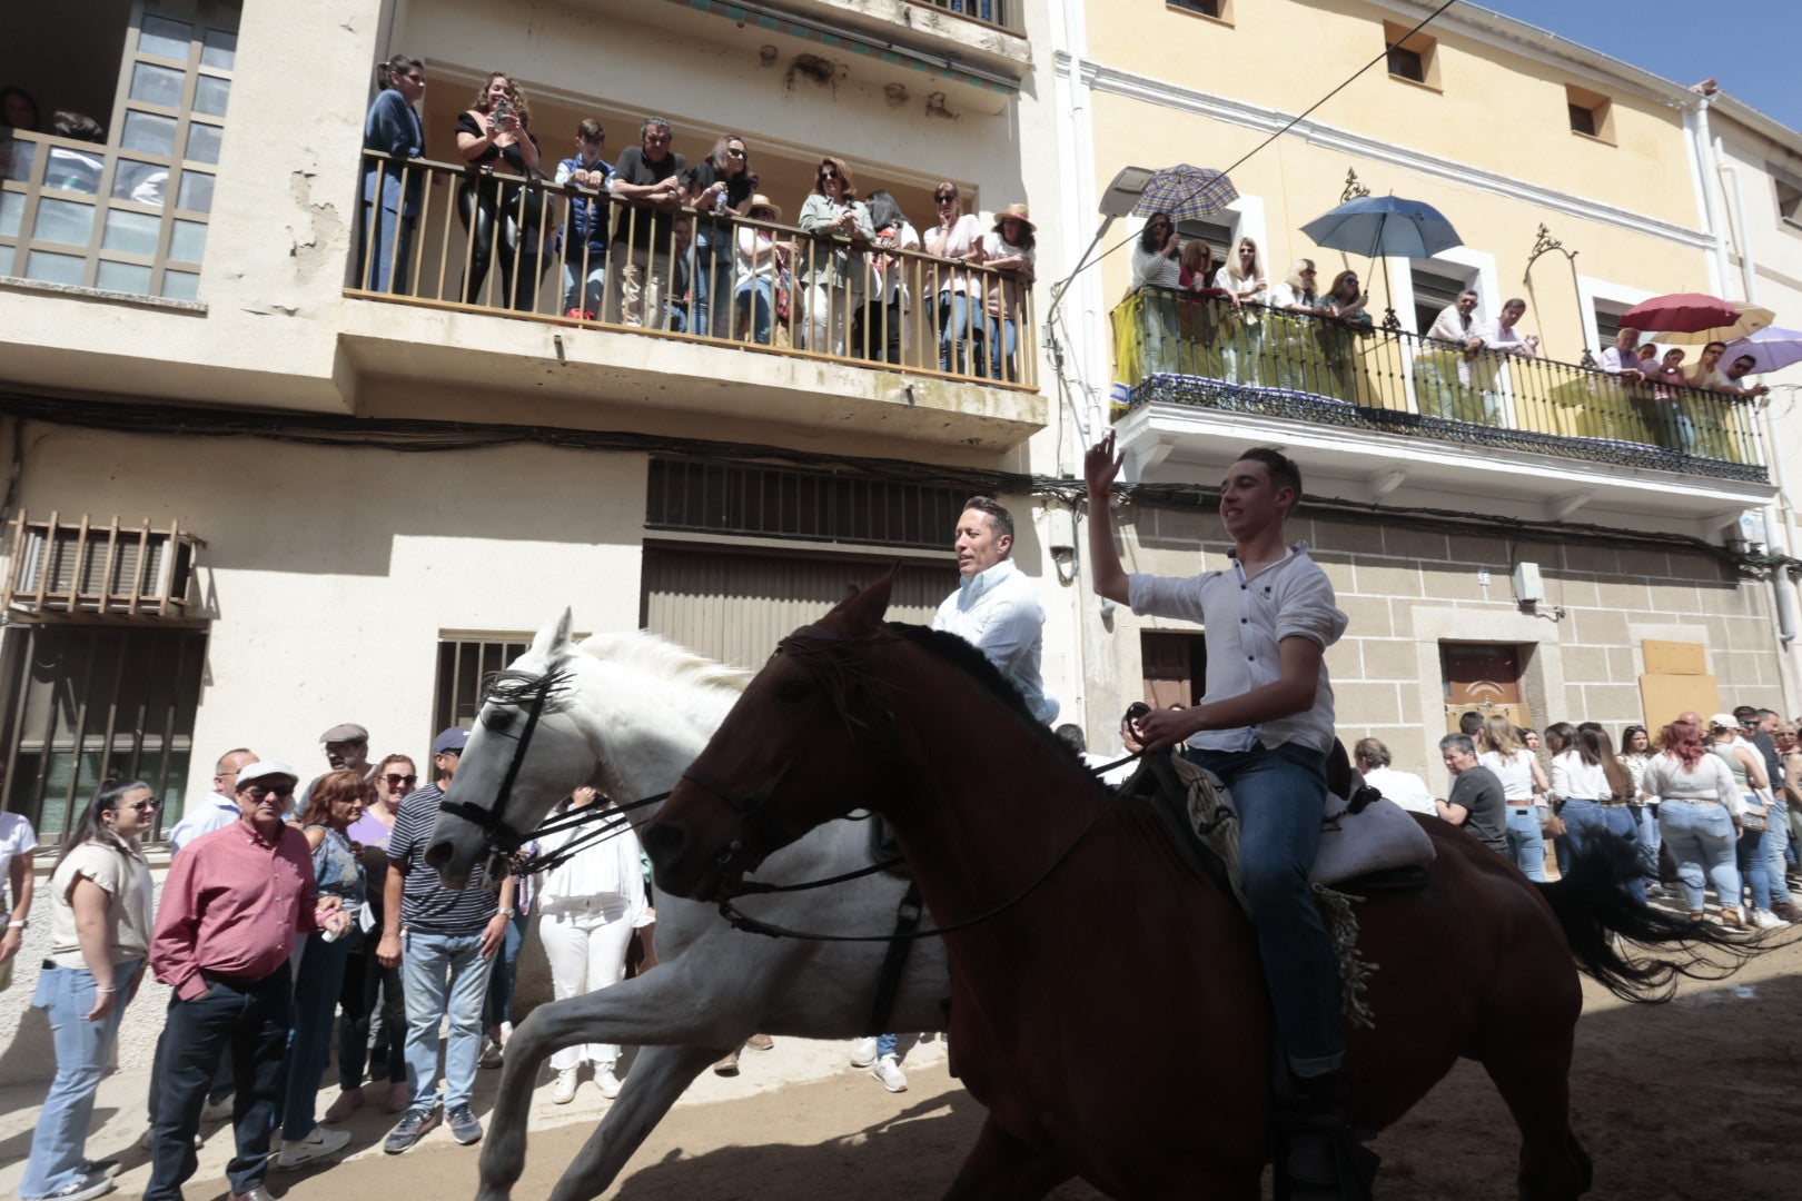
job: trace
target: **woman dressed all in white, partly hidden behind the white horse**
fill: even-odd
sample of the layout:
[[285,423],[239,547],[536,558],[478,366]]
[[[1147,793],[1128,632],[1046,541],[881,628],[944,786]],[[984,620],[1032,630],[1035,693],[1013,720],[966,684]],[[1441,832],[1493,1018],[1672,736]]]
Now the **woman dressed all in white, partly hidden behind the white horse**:
[[[595,789],[577,789],[550,816],[560,817],[598,799]],[[551,834],[541,839],[539,852],[557,852],[589,830],[591,825],[582,825]],[[638,835],[631,826],[587,843],[544,871],[539,877],[539,940],[551,965],[551,996],[562,1001],[620,983],[633,931],[652,920],[638,862]],[[584,1043],[551,1055],[551,1071],[557,1073],[551,1088],[555,1104],[575,1100],[577,1070],[584,1059],[595,1068],[600,1095],[609,1100],[620,1095],[620,1080],[613,1075],[620,1048],[613,1043]]]

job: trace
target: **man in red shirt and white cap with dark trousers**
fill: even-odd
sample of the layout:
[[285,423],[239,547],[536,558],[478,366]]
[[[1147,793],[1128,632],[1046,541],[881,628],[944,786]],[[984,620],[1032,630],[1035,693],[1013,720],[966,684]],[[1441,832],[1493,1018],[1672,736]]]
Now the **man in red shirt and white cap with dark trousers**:
[[350,929],[337,897],[317,898],[306,837],[281,823],[299,776],[281,763],[238,771],[238,821],[189,843],[169,862],[150,965],[175,989],[162,1039],[146,1201],[180,1201],[195,1174],[195,1131],[220,1055],[232,1057],[238,1154],[231,1201],[268,1201],[263,1172],[278,1077],[288,1044],[294,935]]

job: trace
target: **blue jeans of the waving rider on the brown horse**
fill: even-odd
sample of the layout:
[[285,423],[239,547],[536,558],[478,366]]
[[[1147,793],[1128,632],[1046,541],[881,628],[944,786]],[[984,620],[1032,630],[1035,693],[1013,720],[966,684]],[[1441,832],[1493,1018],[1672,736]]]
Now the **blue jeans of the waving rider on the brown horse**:
[[1186,754],[1233,790],[1240,882],[1288,1064],[1299,1077],[1335,1071],[1344,1059],[1339,953],[1308,886],[1326,808],[1326,756],[1294,742]]

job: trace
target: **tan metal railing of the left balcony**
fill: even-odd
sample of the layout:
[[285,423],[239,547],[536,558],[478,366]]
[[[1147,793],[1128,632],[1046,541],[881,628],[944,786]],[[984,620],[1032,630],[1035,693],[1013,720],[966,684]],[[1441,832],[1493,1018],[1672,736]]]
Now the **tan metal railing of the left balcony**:
[[1038,389],[1013,272],[366,151],[375,173],[351,295]]

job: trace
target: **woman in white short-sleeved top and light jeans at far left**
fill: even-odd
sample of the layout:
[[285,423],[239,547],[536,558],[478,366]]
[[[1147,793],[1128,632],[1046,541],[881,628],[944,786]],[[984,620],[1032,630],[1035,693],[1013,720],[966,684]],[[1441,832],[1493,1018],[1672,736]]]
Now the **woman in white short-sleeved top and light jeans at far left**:
[[137,839],[157,805],[148,783],[108,780],[50,871],[50,956],[31,1003],[49,1017],[56,1077],[31,1136],[20,1201],[112,1190],[105,1167],[86,1158],[88,1124],[150,956],[150,864]]

